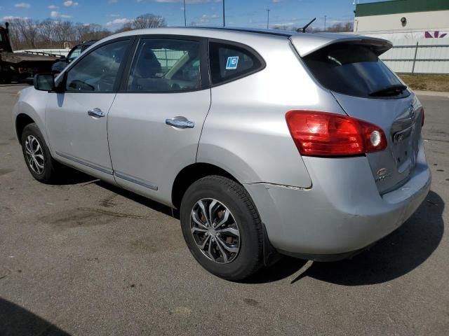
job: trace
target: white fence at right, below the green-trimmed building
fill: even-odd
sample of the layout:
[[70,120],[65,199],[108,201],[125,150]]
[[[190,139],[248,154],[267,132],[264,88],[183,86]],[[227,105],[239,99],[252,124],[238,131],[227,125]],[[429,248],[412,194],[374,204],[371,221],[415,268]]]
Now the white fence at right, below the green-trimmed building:
[[449,38],[402,39],[393,42],[393,48],[380,58],[394,72],[449,74]]

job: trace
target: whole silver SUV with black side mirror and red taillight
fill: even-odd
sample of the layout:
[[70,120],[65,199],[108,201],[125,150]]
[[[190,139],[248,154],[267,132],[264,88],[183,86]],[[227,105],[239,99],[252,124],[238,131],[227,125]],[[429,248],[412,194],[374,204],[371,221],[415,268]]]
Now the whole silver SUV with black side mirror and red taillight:
[[422,105],[391,43],[246,29],[128,31],[20,92],[35,179],[60,164],[180,210],[192,255],[241,280],[279,253],[347,258],[409,218],[431,183]]

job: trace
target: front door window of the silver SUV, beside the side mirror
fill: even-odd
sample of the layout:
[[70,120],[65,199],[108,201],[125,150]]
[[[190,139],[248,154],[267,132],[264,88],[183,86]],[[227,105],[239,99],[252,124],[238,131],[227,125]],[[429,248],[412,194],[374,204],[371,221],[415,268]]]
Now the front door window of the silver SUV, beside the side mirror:
[[68,92],[113,92],[129,41],[103,45],[83,57],[67,73]]

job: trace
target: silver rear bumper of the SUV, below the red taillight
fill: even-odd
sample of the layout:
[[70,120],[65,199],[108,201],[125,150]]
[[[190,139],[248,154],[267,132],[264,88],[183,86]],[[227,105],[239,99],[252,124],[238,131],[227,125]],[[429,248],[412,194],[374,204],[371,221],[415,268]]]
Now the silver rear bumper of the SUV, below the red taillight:
[[309,189],[269,183],[246,188],[276,249],[312,260],[337,260],[396,230],[420,206],[431,185],[424,153],[420,159],[408,182],[384,195],[365,157],[304,158],[314,183]]

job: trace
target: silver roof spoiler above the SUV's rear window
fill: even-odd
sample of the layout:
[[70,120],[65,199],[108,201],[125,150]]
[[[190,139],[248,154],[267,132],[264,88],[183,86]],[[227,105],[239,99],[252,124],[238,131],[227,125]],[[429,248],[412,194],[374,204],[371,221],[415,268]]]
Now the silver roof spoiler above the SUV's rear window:
[[310,55],[316,50],[335,43],[369,45],[377,56],[382,55],[384,52],[393,47],[393,44],[390,41],[382,38],[333,33],[295,34],[290,36],[290,41],[292,41],[301,57]]

